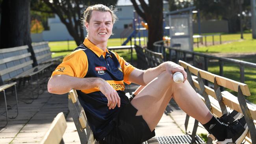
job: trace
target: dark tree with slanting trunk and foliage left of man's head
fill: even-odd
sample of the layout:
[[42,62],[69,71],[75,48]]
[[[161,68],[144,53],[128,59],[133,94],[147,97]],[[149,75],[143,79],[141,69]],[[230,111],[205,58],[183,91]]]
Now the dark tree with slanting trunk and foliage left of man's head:
[[55,13],[65,24],[69,34],[74,38],[77,45],[84,40],[83,24],[80,17],[83,10],[89,5],[104,4],[115,5],[117,0],[32,0],[32,9],[44,13]]

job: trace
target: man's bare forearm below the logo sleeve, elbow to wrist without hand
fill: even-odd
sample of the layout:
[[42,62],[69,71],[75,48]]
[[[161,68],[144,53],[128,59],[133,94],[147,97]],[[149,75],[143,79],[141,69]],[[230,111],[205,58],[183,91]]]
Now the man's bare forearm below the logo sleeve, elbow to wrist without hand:
[[76,78],[68,75],[56,75],[48,81],[48,92],[65,94],[71,89],[82,90],[98,87],[104,80],[101,78]]

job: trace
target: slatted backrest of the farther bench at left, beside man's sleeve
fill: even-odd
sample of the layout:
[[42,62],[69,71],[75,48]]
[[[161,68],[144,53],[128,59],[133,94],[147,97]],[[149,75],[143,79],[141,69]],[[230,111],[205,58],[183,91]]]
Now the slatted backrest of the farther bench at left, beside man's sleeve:
[[52,52],[50,51],[48,42],[32,43],[32,48],[38,65],[52,59]]

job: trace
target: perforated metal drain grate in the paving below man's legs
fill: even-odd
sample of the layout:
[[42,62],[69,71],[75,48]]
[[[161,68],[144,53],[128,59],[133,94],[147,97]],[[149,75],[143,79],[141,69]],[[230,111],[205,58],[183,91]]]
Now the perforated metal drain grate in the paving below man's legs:
[[[156,137],[159,144],[189,144],[191,143],[190,135],[177,135],[177,136],[161,136]],[[196,143],[205,143],[198,135],[196,135]],[[142,144],[148,144],[148,142],[143,142]]]

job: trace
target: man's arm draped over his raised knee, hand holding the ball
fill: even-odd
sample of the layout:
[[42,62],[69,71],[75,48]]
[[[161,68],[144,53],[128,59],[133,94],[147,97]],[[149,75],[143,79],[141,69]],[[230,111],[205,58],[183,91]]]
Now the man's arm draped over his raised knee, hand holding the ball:
[[128,80],[139,85],[147,85],[150,81],[152,81],[165,70],[169,72],[171,78],[173,78],[173,74],[175,72],[182,72],[184,75],[183,82],[185,82],[187,79],[187,73],[182,66],[177,65],[171,61],[167,61],[154,68],[148,68],[147,70],[134,69]]

